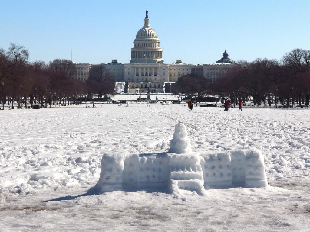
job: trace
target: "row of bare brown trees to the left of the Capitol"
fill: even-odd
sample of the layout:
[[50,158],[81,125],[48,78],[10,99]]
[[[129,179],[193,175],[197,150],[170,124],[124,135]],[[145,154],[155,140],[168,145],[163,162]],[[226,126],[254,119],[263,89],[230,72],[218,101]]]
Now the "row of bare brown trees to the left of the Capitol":
[[[91,69],[89,79],[76,79],[75,64],[67,59],[55,59],[46,64],[43,61],[29,62],[29,52],[21,45],[11,43],[6,51],[0,49],[1,103],[18,102],[18,107],[27,104],[66,104],[90,100],[114,93],[113,76],[106,72],[104,65]],[[5,87],[5,88],[3,88]],[[4,101],[2,96],[5,96]],[[45,103],[45,105],[44,105]]]

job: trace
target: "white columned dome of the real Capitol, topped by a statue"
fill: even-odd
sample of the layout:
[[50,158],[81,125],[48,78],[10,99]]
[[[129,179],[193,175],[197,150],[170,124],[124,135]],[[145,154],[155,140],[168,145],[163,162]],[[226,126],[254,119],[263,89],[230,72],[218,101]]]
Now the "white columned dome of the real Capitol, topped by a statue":
[[131,63],[163,63],[162,48],[156,31],[150,27],[148,11],[144,26],[138,31],[131,49]]

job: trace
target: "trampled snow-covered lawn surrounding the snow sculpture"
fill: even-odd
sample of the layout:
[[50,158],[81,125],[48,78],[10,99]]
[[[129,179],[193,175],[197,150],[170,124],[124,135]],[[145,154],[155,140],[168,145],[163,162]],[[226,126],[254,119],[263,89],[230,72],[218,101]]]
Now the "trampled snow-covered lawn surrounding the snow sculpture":
[[[95,105],[0,112],[0,231],[309,231],[310,110]],[[193,152],[259,149],[269,186],[86,194],[104,153],[167,152],[179,122]]]

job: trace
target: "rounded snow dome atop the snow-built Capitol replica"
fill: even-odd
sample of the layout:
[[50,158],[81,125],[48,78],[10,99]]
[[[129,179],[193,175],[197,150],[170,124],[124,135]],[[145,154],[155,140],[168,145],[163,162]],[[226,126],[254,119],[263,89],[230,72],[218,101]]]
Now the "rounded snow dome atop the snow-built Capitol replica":
[[168,153],[192,153],[191,140],[187,136],[186,127],[183,123],[175,125],[173,138],[170,140],[170,149]]

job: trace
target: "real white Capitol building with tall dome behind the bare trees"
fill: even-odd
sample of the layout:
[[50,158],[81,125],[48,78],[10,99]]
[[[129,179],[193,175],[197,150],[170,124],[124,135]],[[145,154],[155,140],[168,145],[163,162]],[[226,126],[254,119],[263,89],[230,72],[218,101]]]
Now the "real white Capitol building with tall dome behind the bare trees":
[[[146,11],[144,26],[136,34],[129,63],[122,64],[113,59],[104,65],[105,71],[114,76],[117,93],[171,92],[172,83],[178,81],[182,75],[191,73],[203,75],[214,82],[235,64],[226,50],[223,57],[212,64],[186,64],[180,59],[172,64],[166,64],[158,35],[149,23]],[[86,81],[92,65],[88,63],[75,63],[75,65],[76,79]]]

